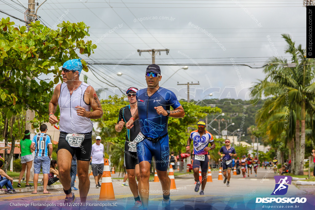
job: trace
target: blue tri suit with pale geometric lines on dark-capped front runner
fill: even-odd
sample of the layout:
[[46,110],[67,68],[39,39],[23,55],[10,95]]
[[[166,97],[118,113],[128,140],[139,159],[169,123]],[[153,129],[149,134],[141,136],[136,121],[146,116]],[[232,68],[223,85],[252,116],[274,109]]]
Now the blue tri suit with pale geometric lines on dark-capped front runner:
[[[169,136],[167,124],[169,117],[158,115],[154,107],[162,106],[164,110],[169,110],[170,106],[176,109],[180,103],[176,95],[166,89],[159,88],[154,94],[148,96],[147,88],[136,93],[140,132],[145,136],[141,142],[137,143],[137,156],[139,163],[148,161],[151,163],[155,157],[155,166],[159,171],[167,171],[169,165]],[[148,139],[159,140],[156,143]]]

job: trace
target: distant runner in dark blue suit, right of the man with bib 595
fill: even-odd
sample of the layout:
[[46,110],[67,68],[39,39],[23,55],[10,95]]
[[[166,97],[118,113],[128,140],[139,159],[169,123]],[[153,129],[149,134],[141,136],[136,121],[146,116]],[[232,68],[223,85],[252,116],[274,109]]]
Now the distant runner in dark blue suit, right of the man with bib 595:
[[[232,157],[236,156],[235,148],[232,147],[229,139],[225,139],[225,146],[222,146],[218,151],[218,154],[222,158],[222,167],[223,167],[223,176],[225,177],[223,183],[226,183],[226,186],[230,186],[231,170],[232,170]],[[227,170],[227,176],[226,176]]]

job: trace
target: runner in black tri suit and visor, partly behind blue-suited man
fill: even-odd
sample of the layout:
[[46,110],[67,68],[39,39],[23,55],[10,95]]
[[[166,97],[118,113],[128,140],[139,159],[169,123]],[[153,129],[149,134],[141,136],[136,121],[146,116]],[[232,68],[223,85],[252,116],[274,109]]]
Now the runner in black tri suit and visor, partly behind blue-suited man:
[[[138,88],[133,87],[129,88],[126,91],[129,100],[129,105],[124,106],[119,111],[118,121],[117,124],[115,125],[115,130],[117,132],[122,131],[124,124],[129,121],[130,117],[135,113],[137,109],[136,100],[137,91]],[[138,184],[136,182],[136,178],[137,180],[139,180],[139,162],[137,157],[136,145],[130,143],[136,138],[139,132],[140,132],[139,120],[136,120],[134,122],[134,127],[130,129],[126,128],[126,141],[124,149],[124,160],[126,171],[128,174],[129,188],[135,199],[135,206],[133,207],[134,209],[140,208],[142,206],[142,203],[138,192]]]

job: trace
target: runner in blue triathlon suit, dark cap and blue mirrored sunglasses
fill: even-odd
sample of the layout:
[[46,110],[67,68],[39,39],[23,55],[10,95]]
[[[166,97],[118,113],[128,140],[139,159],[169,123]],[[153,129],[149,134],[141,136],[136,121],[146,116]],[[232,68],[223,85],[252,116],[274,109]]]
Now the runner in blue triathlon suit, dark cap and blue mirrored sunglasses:
[[[143,209],[148,208],[149,200],[149,178],[152,157],[155,157],[157,176],[160,179],[163,190],[162,207],[170,207],[170,183],[167,174],[169,165],[169,136],[167,122],[169,117],[181,118],[185,116],[183,107],[180,105],[176,95],[165,88],[159,87],[161,81],[161,70],[156,64],[148,65],[146,68],[147,88],[136,93],[137,110],[126,123],[126,128],[133,127],[135,120],[139,119],[140,133],[143,140],[137,143],[137,156],[140,167],[140,180],[138,190]],[[172,106],[173,111],[170,111]],[[142,137],[139,136],[139,138]]]

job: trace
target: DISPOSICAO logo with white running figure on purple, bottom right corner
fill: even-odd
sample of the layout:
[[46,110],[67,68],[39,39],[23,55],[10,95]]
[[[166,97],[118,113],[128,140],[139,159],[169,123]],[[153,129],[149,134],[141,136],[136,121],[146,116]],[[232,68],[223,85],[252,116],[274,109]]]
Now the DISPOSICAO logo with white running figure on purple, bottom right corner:
[[[290,176],[274,176],[276,181],[276,186],[272,191],[271,195],[282,196],[288,192],[288,184],[291,184],[292,177]],[[264,198],[256,198],[256,203],[305,203],[306,198],[300,197],[284,197],[284,198],[276,198],[276,197],[264,197]]]

